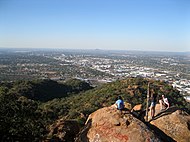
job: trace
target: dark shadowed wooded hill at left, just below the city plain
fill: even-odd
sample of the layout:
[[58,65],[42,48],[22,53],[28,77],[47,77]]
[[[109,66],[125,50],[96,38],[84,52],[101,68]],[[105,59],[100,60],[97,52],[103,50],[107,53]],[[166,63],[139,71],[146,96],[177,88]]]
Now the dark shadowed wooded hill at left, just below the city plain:
[[64,83],[58,83],[53,80],[22,80],[12,83],[1,83],[1,85],[7,87],[10,94],[25,96],[28,99],[42,102],[92,89],[88,83],[77,79],[70,79]]

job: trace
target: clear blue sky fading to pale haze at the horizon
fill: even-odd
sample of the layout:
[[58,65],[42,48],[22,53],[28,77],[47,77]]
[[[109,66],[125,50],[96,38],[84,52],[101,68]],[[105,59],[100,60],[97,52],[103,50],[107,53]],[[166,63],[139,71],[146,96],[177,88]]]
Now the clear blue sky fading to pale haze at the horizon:
[[190,51],[190,0],[0,0],[0,47]]

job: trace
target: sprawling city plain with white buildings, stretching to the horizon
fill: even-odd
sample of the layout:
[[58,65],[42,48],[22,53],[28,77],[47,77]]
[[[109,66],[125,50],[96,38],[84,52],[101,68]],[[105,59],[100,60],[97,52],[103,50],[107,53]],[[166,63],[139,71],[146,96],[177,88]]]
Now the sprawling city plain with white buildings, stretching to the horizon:
[[190,53],[0,48],[0,81],[77,78],[96,86],[128,77],[163,80],[190,101]]

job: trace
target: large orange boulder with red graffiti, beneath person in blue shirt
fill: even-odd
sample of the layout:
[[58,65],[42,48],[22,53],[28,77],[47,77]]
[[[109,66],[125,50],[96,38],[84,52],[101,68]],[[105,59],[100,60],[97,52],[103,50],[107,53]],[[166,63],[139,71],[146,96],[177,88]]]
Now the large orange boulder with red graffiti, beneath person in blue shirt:
[[161,141],[143,122],[128,111],[104,107],[92,113],[77,142],[149,142]]

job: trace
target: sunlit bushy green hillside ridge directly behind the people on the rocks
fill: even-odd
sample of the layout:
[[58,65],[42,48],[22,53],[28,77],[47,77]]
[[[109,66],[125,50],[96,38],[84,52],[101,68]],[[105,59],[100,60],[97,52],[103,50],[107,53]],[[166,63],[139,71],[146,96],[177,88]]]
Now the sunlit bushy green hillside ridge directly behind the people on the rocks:
[[[150,90],[158,94],[158,98],[165,94],[172,106],[177,106],[185,110],[190,109],[190,105],[184,100],[179,91],[172,88],[162,81],[153,81],[142,78],[128,78],[116,82],[104,84],[86,92],[71,95],[63,99],[54,99],[43,103],[41,108],[51,110],[54,115],[66,115],[69,119],[87,119],[88,115],[104,106],[112,105],[117,96],[123,97],[124,101],[129,102],[132,107],[142,104],[146,106],[146,96],[148,82],[151,82]],[[51,109],[50,109],[51,108]]]

